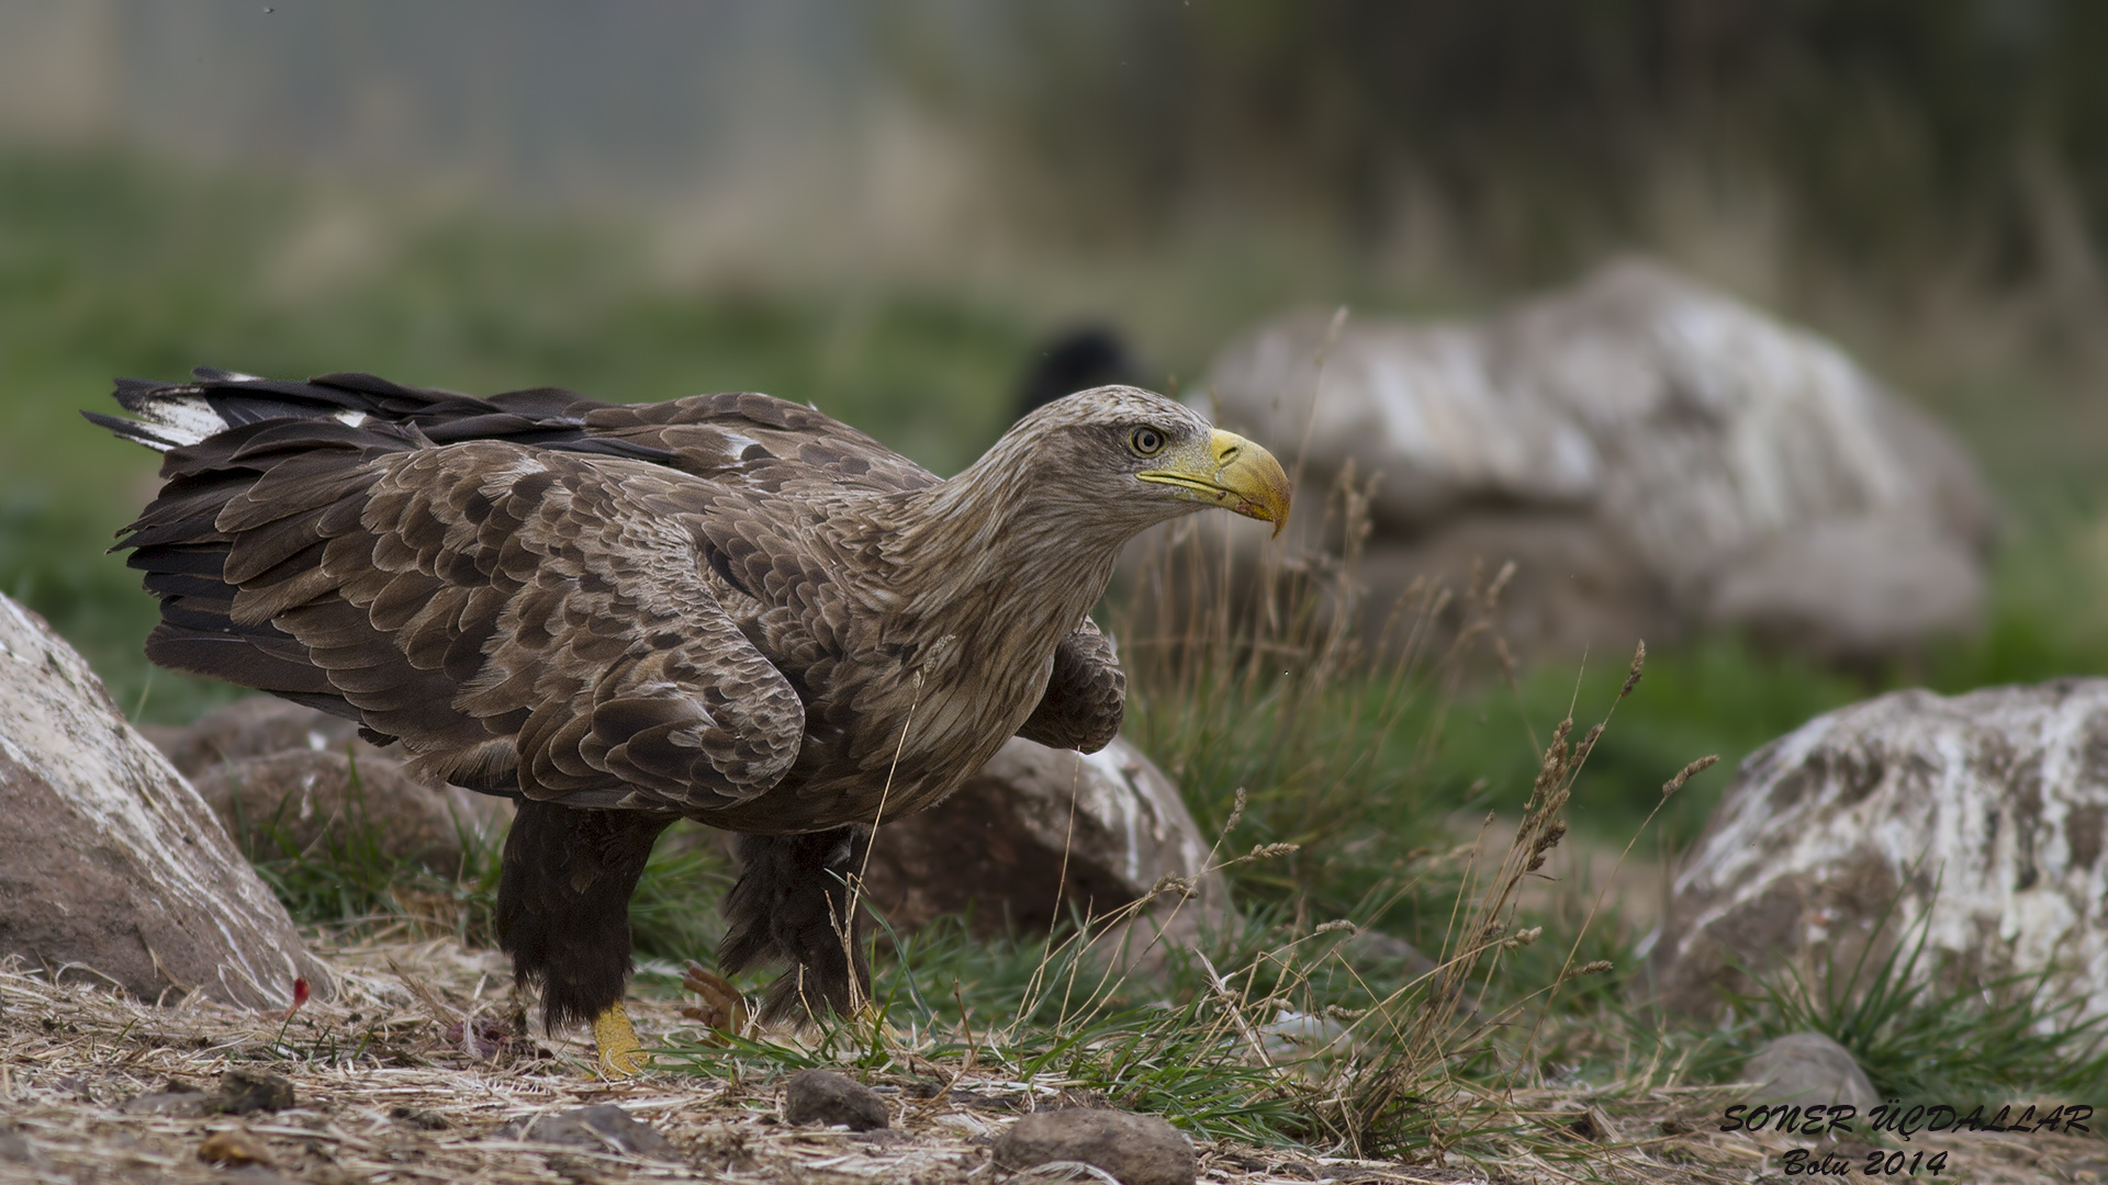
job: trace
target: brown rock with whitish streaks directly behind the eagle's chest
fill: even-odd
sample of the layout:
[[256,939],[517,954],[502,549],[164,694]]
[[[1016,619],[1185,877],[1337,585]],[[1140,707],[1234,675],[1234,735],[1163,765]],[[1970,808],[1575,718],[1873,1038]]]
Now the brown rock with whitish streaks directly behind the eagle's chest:
[[[1126,738],[1090,755],[1012,738],[942,803],[885,820],[864,886],[900,932],[972,911],[982,934],[1043,934],[1056,900],[1105,915],[1166,875],[1195,879],[1197,900],[1178,911],[1193,924],[1227,900],[1206,867],[1208,841],[1178,786]],[[1159,915],[1176,898],[1164,900]]]

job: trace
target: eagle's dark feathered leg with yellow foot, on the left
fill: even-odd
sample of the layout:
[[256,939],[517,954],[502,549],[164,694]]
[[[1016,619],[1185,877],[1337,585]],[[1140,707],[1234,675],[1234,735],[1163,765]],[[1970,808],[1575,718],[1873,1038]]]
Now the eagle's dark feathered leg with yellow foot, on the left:
[[542,987],[542,1023],[592,1023],[601,1073],[643,1069],[622,1008],[630,980],[630,894],[651,843],[677,816],[523,801],[506,833],[497,936],[521,985]]

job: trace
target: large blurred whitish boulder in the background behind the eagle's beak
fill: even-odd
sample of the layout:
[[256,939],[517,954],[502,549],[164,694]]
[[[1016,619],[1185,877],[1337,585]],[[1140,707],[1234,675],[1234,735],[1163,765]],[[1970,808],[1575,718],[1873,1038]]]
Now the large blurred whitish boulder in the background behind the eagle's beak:
[[1339,552],[1324,489],[1377,479],[1379,620],[1417,576],[1507,559],[1505,633],[1541,652],[1731,624],[1866,658],[1982,614],[1963,447],[1834,344],[1657,266],[1476,325],[1282,316],[1193,390],[1301,464],[1292,548]]

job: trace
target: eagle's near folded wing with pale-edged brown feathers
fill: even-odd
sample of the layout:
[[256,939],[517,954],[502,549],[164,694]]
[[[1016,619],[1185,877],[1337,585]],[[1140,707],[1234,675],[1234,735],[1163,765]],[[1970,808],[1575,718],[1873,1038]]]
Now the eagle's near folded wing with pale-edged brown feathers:
[[698,569],[691,477],[318,420],[215,434],[164,477],[126,540],[169,601],[156,662],[341,704],[447,780],[571,805],[721,808],[797,757],[803,704]]

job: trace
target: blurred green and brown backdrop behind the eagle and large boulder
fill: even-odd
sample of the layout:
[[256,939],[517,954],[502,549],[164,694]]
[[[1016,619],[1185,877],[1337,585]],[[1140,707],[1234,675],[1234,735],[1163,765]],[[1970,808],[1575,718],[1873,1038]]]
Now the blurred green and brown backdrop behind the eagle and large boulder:
[[[1077,325],[1191,390],[1288,308],[1478,318],[1640,253],[1836,342],[1996,506],[1979,628],[1657,647],[1575,818],[1718,751],[1674,846],[1830,706],[2108,673],[2104,51],[2087,0],[13,2],[0,590],[137,719],[232,696],[139,658],[112,375],[750,388],[953,472]],[[1611,649],[1465,689],[1412,812],[1520,803]]]

